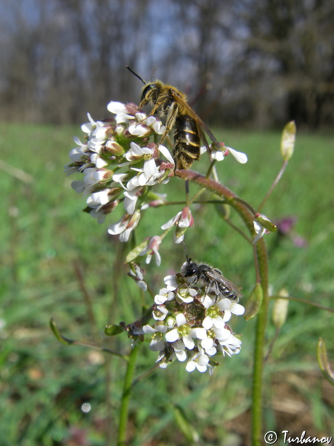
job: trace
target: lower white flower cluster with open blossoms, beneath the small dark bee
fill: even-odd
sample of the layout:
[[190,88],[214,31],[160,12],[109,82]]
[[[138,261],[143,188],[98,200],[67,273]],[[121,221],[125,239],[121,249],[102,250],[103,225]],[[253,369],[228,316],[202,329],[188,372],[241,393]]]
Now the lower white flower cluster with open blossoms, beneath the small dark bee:
[[158,351],[156,362],[166,368],[174,358],[186,362],[186,370],[211,373],[218,365],[216,354],[237,354],[241,341],[226,324],[232,314],[242,315],[244,307],[223,295],[209,295],[204,287],[190,288],[181,274],[167,276],[165,287],[154,298],[153,326],[143,326],[151,334],[150,349]]

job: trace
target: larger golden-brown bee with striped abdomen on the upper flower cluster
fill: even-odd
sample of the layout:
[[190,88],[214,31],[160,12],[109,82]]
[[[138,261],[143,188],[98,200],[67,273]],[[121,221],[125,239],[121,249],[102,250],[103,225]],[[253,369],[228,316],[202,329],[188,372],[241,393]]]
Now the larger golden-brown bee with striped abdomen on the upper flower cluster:
[[127,68],[144,84],[139,108],[141,109],[144,105],[149,104],[152,106],[150,115],[158,112],[161,117],[166,117],[166,130],[161,136],[159,145],[163,143],[171,128],[174,127],[173,157],[177,169],[189,169],[195,160],[199,160],[201,140],[204,142],[208,153],[210,153],[204,131],[214,145],[217,148],[220,147],[217,139],[191,109],[184,93],[159,80],[153,82],[155,70],[151,82],[147,83],[129,66]]

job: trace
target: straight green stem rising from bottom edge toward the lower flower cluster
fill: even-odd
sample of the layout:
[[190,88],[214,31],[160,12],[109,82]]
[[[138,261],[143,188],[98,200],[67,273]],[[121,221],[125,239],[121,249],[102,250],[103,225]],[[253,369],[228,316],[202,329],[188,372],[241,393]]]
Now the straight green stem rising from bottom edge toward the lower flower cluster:
[[138,356],[138,351],[139,351],[139,346],[135,345],[129,354],[128,366],[124,378],[124,387],[123,387],[122,401],[120,407],[117,446],[125,446],[127,444],[126,427],[129,416],[130,392],[136,368],[136,359]]

